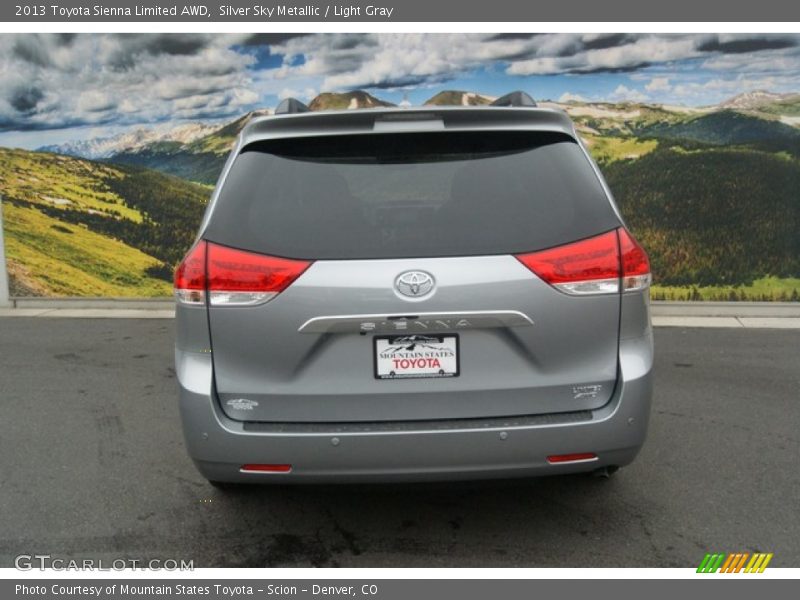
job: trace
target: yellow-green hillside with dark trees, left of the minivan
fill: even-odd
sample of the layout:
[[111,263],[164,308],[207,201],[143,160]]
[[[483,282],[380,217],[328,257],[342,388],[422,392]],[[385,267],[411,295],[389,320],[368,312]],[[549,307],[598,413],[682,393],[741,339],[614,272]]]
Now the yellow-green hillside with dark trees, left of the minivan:
[[165,296],[209,191],[175,177],[0,148],[13,295]]

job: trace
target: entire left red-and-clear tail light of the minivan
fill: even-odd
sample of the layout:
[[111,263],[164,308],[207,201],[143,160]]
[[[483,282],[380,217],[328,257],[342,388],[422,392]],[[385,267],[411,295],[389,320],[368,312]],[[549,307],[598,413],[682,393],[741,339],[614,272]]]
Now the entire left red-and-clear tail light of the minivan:
[[201,241],[175,272],[175,297],[184,304],[203,304],[205,294],[211,306],[263,304],[310,265]]

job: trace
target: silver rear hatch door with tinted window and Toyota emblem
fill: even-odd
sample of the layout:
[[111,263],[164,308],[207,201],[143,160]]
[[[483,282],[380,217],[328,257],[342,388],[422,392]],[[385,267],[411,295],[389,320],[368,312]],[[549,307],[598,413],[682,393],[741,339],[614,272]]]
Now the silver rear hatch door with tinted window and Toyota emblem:
[[266,303],[209,308],[222,408],[248,421],[379,422],[602,406],[619,294],[565,294],[516,255],[618,226],[562,134],[251,145],[204,238],[310,266]]

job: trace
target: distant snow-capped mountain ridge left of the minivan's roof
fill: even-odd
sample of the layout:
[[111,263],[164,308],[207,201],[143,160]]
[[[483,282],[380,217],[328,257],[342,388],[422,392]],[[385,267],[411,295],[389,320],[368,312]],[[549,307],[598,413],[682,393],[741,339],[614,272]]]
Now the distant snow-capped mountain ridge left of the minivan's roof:
[[220,126],[209,123],[185,123],[178,126],[137,127],[110,137],[43,146],[39,150],[90,159],[111,158],[115,154],[136,152],[155,143],[189,144],[216,131]]

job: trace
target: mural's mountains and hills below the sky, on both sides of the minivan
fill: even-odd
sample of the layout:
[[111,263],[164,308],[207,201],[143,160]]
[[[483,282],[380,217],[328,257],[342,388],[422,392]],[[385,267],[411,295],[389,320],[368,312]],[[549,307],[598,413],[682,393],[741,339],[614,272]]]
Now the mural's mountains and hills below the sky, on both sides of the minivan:
[[[425,103],[491,99],[441,90]],[[365,91],[310,102],[314,110],[392,105]],[[650,253],[654,298],[800,299],[800,94],[754,91],[702,108],[540,105],[576,122]],[[12,295],[169,295],[231,144],[268,113],[0,148]]]

